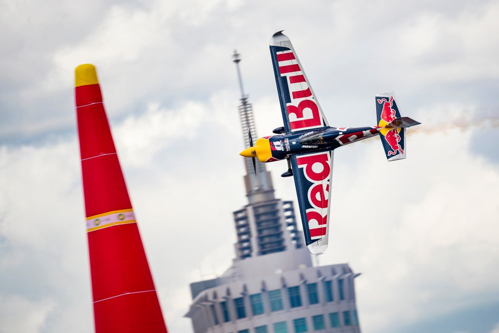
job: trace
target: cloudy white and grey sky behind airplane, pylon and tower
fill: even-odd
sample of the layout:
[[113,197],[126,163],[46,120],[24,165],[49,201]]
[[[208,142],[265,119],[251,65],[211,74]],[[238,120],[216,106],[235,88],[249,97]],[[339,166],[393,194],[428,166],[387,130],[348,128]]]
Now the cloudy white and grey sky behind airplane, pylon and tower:
[[[363,332],[498,333],[498,16],[498,0],[0,0],[0,333],[93,330],[81,63],[98,69],[167,326],[192,332],[188,283],[230,265],[246,204],[231,55],[269,134],[281,29],[330,124],[374,125],[374,94],[392,90],[423,123],[406,160],[387,163],[378,139],[335,153],[319,261],[362,273]],[[290,200],[284,164],[268,169]]]

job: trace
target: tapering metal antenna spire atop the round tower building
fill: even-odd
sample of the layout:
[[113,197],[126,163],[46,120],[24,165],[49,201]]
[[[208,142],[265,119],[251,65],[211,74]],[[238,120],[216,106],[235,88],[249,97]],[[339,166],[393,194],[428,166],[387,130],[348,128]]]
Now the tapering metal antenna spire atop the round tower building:
[[[243,78],[239,66],[239,63],[241,62],[241,54],[239,54],[238,51],[234,50],[234,54],[232,56],[234,63],[236,63],[239,87],[241,89],[241,104],[239,105],[241,129],[243,132],[245,148],[248,148],[250,147],[248,129],[251,133],[252,138],[256,139],[258,136],[256,135],[256,128],[254,125],[253,109],[251,103],[248,101],[248,95],[245,94],[243,88]],[[256,170],[253,170],[251,159],[245,158],[245,167],[246,195],[248,197],[248,200],[250,201],[250,204],[265,200],[273,200],[274,189],[272,187],[272,178],[270,177],[270,172],[265,169],[265,165],[259,161],[256,161]]]

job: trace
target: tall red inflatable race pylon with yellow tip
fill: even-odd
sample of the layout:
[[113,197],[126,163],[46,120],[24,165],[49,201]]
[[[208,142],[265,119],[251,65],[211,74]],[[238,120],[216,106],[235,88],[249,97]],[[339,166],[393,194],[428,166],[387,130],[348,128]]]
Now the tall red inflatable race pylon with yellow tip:
[[75,70],[96,333],[166,333],[95,67]]

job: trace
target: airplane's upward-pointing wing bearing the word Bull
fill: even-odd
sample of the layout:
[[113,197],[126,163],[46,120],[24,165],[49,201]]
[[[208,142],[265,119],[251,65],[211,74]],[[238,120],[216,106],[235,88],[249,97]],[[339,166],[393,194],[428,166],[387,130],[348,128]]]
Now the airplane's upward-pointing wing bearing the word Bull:
[[328,126],[293,45],[282,31],[270,38],[270,56],[286,133]]

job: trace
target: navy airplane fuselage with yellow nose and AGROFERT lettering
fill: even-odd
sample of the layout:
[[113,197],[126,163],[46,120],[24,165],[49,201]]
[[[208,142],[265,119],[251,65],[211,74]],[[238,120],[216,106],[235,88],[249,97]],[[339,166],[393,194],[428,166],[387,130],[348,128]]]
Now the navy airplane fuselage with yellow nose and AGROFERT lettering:
[[295,154],[334,150],[378,134],[379,127],[376,126],[340,128],[327,126],[259,138],[256,140],[254,151],[255,157],[260,162],[273,162]]

